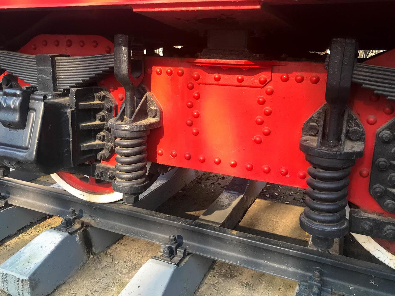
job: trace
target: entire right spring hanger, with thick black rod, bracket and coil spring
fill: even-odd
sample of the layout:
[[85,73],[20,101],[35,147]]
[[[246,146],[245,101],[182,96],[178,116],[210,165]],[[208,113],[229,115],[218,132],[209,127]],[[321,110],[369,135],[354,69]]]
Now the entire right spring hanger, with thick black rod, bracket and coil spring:
[[364,150],[365,131],[347,107],[356,54],[355,40],[332,40],[326,104],[305,122],[299,143],[311,165],[307,170],[307,207],[299,222],[303,230],[312,234],[312,243],[321,251],[329,250],[335,238],[348,232],[348,176]]

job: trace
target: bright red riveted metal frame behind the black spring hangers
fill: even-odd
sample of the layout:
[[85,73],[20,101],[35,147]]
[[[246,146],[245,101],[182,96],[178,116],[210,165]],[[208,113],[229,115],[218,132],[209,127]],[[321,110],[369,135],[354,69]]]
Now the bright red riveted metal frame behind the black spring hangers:
[[[78,35],[41,35],[21,49],[70,55],[112,51],[103,37]],[[395,67],[395,51],[367,64]],[[309,165],[298,149],[301,128],[325,103],[325,82],[323,63],[148,57],[143,84],[163,118],[163,126],[149,135],[148,160],[305,188]],[[122,102],[124,90],[113,75],[100,84]],[[366,142],[365,155],[352,168],[348,199],[395,217],[368,189],[376,130],[393,118],[394,103],[353,85],[349,105],[365,128]]]

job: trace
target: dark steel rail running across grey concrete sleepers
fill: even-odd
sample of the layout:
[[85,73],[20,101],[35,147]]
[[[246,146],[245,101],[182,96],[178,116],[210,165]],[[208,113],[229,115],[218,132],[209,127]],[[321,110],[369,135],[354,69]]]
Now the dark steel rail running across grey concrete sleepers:
[[323,285],[343,295],[393,295],[395,271],[344,256],[330,255],[124,204],[95,204],[51,187],[11,178],[0,179],[0,193],[9,204],[56,216],[70,208],[86,224],[164,244],[176,234],[194,253],[294,281],[309,281],[320,270]]

